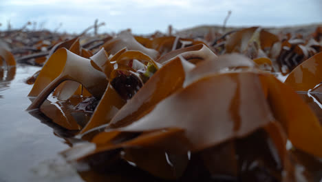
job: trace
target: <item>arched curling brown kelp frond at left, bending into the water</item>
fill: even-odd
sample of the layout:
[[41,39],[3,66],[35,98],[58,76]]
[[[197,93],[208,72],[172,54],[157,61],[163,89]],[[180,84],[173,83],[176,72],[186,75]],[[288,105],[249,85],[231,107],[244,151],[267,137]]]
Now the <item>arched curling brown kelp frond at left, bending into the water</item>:
[[79,57],[63,48],[55,52],[41,70],[28,95],[37,98],[28,109],[39,108],[52,90],[66,80],[81,83],[98,98],[102,97],[107,86],[105,74],[94,69],[89,59]]

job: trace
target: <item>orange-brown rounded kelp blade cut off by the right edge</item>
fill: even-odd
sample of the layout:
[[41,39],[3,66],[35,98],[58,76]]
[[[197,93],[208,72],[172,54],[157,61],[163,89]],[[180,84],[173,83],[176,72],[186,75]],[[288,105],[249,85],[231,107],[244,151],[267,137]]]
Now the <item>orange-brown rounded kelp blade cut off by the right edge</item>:
[[322,81],[322,52],[298,65],[284,83],[296,91],[308,91]]

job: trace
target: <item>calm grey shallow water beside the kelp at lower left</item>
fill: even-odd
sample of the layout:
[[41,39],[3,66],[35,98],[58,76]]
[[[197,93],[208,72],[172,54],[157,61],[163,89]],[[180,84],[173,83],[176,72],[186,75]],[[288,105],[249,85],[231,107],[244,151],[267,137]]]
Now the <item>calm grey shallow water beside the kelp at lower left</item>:
[[25,111],[32,88],[25,79],[40,69],[17,65],[15,74],[14,69],[3,72],[7,81],[0,74],[0,182],[83,181],[59,155],[69,146]]

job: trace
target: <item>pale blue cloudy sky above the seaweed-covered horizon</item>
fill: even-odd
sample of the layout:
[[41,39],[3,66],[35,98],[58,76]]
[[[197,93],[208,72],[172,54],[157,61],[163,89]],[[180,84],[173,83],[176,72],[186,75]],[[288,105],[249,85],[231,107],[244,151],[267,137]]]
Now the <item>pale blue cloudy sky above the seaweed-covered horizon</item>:
[[0,30],[42,28],[79,33],[105,22],[99,32],[131,28],[136,34],[200,25],[294,26],[322,23],[322,0],[0,0]]

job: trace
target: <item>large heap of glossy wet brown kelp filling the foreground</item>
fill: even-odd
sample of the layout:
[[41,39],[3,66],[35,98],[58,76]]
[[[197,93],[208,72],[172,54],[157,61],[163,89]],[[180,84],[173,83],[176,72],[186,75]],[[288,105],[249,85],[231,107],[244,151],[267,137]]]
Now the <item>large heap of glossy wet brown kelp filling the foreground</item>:
[[320,181],[321,33],[124,31],[15,55],[43,65],[28,112],[85,181]]

